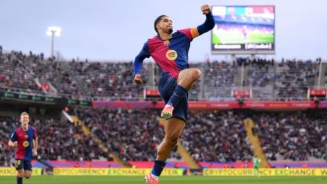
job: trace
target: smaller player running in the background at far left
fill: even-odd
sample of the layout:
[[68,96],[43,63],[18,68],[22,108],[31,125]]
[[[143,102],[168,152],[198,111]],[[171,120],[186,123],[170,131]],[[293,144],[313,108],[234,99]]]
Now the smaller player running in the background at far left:
[[32,174],[32,156],[37,156],[37,134],[35,128],[28,125],[30,116],[23,112],[20,116],[21,127],[11,135],[8,145],[17,147],[15,152],[15,167],[18,172],[17,184],[23,183],[23,177],[30,178]]

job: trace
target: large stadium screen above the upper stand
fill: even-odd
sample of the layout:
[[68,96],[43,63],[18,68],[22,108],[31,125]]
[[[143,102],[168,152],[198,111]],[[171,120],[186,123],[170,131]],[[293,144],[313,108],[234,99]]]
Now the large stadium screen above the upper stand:
[[274,6],[213,6],[213,54],[274,54]]

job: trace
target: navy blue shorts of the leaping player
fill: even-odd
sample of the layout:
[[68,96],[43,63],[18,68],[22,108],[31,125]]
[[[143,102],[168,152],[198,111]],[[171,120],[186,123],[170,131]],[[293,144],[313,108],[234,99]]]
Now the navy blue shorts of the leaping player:
[[[163,75],[161,75],[158,89],[161,98],[165,101],[165,104],[167,104],[167,102],[169,101],[170,96],[173,95],[176,86],[177,86],[177,79],[173,77],[169,77],[168,73],[164,73]],[[175,107],[173,111],[173,117],[182,119],[184,120],[184,122],[186,122],[187,114],[188,114],[188,93],[186,93],[186,96],[178,102],[177,107]]]

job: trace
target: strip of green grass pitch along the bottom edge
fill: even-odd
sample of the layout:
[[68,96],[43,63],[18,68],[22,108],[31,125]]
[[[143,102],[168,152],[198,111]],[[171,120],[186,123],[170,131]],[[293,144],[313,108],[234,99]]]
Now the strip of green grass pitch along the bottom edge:
[[[1,184],[16,184],[15,176],[0,176]],[[24,184],[145,184],[143,176],[32,176]],[[326,184],[326,176],[161,176],[160,184]]]

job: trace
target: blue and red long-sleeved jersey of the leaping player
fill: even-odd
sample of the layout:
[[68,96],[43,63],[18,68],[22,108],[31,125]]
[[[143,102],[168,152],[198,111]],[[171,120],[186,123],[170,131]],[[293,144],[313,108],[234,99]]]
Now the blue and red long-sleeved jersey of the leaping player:
[[134,75],[141,72],[143,60],[152,57],[162,73],[177,78],[179,71],[188,68],[188,50],[193,38],[208,32],[215,26],[211,12],[206,14],[204,24],[196,28],[177,30],[172,38],[163,40],[159,35],[148,39],[134,61]]

